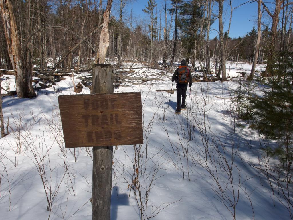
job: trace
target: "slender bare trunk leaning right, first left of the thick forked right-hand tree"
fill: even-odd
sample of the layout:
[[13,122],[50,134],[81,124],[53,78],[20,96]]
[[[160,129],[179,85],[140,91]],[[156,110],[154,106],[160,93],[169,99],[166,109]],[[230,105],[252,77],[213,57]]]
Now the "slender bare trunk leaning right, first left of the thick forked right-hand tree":
[[[258,50],[259,50],[259,44],[260,44],[260,36],[261,36],[261,0],[258,0],[258,21],[257,21],[257,36],[256,36],[256,43],[255,43],[255,49],[254,49],[254,55],[253,55],[253,63],[250,75],[248,76],[248,80],[253,80],[254,72],[255,72],[255,66],[258,58]],[[238,57],[237,57],[238,62]]]

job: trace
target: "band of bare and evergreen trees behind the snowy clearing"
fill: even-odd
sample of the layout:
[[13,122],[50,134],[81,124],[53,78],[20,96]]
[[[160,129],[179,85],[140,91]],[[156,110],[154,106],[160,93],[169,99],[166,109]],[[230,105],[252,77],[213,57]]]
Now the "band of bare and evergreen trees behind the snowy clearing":
[[[19,51],[23,67],[30,72],[33,65],[39,71],[47,70],[48,64],[56,68],[79,70],[88,68],[96,60],[103,7],[99,0],[27,0],[5,1],[10,4],[18,31]],[[157,65],[179,62],[185,58],[193,69],[200,68],[204,77],[213,67],[218,76],[226,80],[226,60],[253,62],[260,31],[256,62],[267,64],[266,75],[273,75],[285,57],[292,60],[292,4],[291,0],[275,0],[272,9],[261,0],[250,2],[265,14],[257,28],[252,27],[245,36],[229,37],[233,10],[231,1],[224,0],[149,0],[143,10],[147,18],[138,21],[131,12],[125,15],[131,0],[116,0],[117,16],[109,23],[110,45],[107,57],[117,60],[120,68],[125,60]],[[161,2],[160,2],[161,3]],[[228,6],[224,11],[224,3]],[[241,7],[241,5],[239,6]],[[5,30],[5,20],[11,13],[0,4],[0,68],[12,70],[11,46]],[[113,10],[112,10],[113,11]],[[228,30],[223,25],[223,12],[230,14]],[[228,20],[227,18],[225,18]],[[11,20],[9,20],[11,21]],[[219,35],[209,38],[210,27],[219,23]],[[239,24],[241,25],[241,24]],[[224,30],[225,29],[225,30]],[[10,49],[9,49],[10,48]],[[195,63],[198,66],[195,66]],[[30,64],[30,65],[28,65]],[[254,72],[253,72],[254,73]]]

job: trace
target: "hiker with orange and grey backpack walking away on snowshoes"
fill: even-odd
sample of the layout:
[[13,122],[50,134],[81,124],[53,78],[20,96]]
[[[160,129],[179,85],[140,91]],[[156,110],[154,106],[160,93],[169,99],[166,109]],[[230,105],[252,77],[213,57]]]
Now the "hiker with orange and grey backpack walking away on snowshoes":
[[[192,85],[192,75],[190,70],[187,68],[186,60],[180,62],[180,66],[175,70],[172,76],[172,82],[176,82],[177,89],[177,108],[175,114],[180,114],[181,110],[186,110],[185,98],[187,91],[187,84],[189,87]],[[188,83],[189,82],[189,83]],[[182,95],[182,103],[181,102]]]

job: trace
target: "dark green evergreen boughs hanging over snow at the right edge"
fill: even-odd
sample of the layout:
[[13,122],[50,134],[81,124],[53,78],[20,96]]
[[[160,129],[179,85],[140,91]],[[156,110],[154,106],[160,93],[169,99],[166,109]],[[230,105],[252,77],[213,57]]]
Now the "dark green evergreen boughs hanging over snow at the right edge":
[[285,170],[285,180],[291,182],[293,162],[293,65],[287,63],[283,77],[273,77],[263,97],[252,99],[254,127],[266,138],[275,140],[277,147],[263,149],[269,156],[277,157]]

